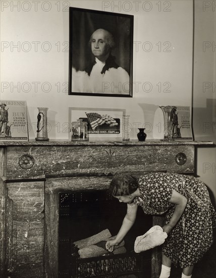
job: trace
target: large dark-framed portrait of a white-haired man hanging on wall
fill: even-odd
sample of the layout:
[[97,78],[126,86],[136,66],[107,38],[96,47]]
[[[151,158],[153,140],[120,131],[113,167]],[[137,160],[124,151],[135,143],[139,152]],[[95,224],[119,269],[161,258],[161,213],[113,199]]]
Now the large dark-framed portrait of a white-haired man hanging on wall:
[[69,95],[132,97],[133,16],[69,10]]

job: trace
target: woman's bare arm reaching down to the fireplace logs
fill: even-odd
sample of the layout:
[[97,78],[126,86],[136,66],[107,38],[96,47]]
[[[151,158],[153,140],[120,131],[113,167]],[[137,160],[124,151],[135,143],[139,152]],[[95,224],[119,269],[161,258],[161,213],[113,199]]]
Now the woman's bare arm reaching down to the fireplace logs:
[[114,246],[119,245],[120,242],[124,239],[125,235],[128,233],[130,228],[133,226],[136,220],[136,213],[137,213],[137,205],[127,205],[127,213],[125,218],[122,222],[122,226],[119,230],[118,235],[116,236],[115,240],[109,240],[106,242],[106,249],[110,252],[113,252]]

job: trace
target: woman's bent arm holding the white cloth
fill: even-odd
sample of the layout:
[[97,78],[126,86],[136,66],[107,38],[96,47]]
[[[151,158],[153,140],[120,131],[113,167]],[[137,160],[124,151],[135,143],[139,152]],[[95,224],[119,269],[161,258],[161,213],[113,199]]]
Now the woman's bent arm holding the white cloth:
[[170,219],[170,222],[163,227],[167,234],[170,233],[172,228],[175,227],[176,223],[179,221],[179,218],[182,216],[187,205],[187,198],[174,190],[170,198],[170,203],[175,204],[176,208],[174,210],[173,216]]

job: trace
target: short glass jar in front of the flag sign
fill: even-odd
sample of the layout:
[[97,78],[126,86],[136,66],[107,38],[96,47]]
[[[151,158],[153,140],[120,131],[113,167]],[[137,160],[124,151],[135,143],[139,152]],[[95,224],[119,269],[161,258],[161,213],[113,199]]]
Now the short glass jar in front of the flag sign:
[[71,123],[71,141],[87,141],[88,140],[88,126],[87,122],[78,119]]

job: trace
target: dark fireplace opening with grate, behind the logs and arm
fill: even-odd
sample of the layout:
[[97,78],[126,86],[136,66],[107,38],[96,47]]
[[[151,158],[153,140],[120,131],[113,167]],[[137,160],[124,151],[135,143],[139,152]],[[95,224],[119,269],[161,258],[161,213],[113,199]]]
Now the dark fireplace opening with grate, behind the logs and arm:
[[59,200],[59,277],[150,277],[151,251],[135,253],[134,242],[152,226],[152,216],[138,207],[136,222],[124,239],[126,253],[82,259],[74,242],[104,229],[116,236],[127,204],[107,190],[61,192]]

